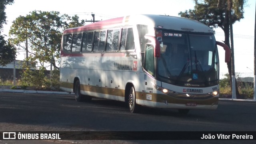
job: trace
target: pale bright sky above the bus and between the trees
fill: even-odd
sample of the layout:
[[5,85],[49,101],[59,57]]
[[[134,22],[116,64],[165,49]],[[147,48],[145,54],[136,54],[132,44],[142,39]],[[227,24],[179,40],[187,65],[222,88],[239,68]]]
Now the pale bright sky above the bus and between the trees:
[[[179,12],[194,9],[193,0],[14,0],[14,4],[6,6],[7,24],[4,25],[3,35],[8,36],[12,22],[18,16],[26,16],[33,10],[58,11],[60,14],[91,20],[107,20],[132,14],[160,14],[178,16]],[[240,75],[252,76],[254,69],[254,23],[256,0],[248,0],[244,7],[244,19],[233,25],[234,34],[234,61],[235,72]],[[89,24],[90,22],[86,23]],[[222,29],[215,29],[217,41],[224,41]],[[228,73],[224,62],[224,49],[219,47],[220,76]],[[17,56],[18,60],[24,59],[24,52]]]

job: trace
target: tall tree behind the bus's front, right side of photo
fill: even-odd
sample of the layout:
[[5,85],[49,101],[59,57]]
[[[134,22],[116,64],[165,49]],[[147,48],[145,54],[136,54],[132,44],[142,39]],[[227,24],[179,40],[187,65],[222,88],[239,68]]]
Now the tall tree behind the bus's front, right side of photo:
[[[185,12],[180,12],[179,15],[184,18],[190,18],[202,22],[212,29],[220,27],[225,35],[224,43],[230,47],[230,22],[231,24],[234,24],[236,21],[240,21],[244,18],[243,6],[246,3],[246,0],[233,1],[239,2],[229,9],[228,0],[203,0],[202,3],[198,3],[198,0],[195,0],[194,10],[186,10]],[[240,1],[243,1],[243,3]],[[230,10],[231,15],[229,13]],[[230,85],[232,87],[232,59],[227,63],[227,67],[230,77]],[[237,85],[235,86],[235,89],[238,96],[240,96]]]

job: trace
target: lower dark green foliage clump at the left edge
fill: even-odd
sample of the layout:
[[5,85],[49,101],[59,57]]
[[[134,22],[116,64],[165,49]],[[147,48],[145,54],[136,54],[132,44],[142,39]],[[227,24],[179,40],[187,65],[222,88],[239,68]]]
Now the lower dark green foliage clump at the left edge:
[[0,65],[6,66],[8,63],[14,61],[16,56],[15,47],[0,36]]

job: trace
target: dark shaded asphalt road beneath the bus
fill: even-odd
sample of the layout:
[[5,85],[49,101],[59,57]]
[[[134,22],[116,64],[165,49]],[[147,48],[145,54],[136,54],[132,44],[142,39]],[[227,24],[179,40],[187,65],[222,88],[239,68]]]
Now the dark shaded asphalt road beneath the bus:
[[[256,102],[220,101],[217,110],[191,110],[181,115],[176,110],[142,107],[132,114],[125,103],[93,99],[78,103],[73,95],[0,93],[0,131],[256,131]],[[25,141],[0,141],[16,144]],[[29,141],[35,142],[35,141]],[[26,142],[26,143],[29,143]],[[56,143],[36,141],[40,144]],[[45,143],[44,143],[45,142]],[[60,143],[197,143],[218,141],[89,140]],[[250,143],[252,141],[245,141]],[[221,143],[242,143],[225,140]],[[252,143],[255,143],[252,142]]]

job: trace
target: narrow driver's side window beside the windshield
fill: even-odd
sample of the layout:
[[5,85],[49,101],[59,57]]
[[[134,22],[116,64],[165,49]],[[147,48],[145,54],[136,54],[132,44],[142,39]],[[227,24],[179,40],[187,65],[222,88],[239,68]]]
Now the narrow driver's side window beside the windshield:
[[146,44],[144,68],[150,75],[154,76],[154,67],[154,47],[153,45]]

